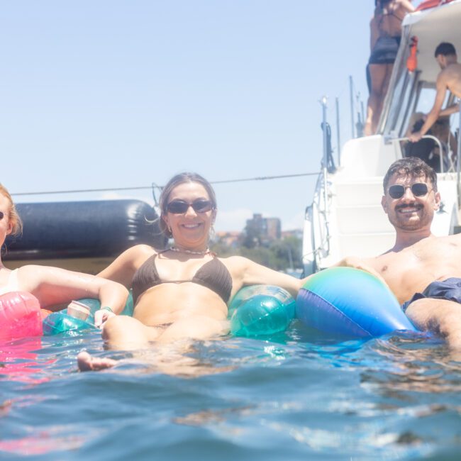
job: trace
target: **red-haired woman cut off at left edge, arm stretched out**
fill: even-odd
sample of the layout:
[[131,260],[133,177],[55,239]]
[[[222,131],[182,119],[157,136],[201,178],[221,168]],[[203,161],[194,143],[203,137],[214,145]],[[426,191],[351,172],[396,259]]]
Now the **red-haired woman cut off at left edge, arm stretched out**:
[[[21,230],[21,218],[13,199],[0,184],[0,246],[3,247],[6,235],[18,235]],[[128,298],[125,287],[101,277],[39,265],[9,270],[0,258],[0,295],[15,291],[33,294],[40,306],[47,309],[72,299],[98,298],[103,307],[94,313],[96,326],[101,326],[109,317],[121,312]]]

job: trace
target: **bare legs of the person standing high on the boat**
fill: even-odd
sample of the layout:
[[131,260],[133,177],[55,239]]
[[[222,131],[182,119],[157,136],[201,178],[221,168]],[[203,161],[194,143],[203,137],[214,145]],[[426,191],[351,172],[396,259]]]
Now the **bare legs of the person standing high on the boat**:
[[374,135],[381,116],[384,97],[391,79],[392,64],[370,64],[370,79],[372,88],[367,104],[367,120],[365,121],[365,136]]

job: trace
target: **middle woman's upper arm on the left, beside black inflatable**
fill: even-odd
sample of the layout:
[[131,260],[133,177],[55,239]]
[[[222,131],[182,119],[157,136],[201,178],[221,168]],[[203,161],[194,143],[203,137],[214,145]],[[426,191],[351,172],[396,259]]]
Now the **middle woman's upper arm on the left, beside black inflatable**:
[[98,277],[118,282],[129,289],[138,267],[154,252],[149,245],[136,245],[128,248],[120,256],[116,257],[106,269],[99,272]]

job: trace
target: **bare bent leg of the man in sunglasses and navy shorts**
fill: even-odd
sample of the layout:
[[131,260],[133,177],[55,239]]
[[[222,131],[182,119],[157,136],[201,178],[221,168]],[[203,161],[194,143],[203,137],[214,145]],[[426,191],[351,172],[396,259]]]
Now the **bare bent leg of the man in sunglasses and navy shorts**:
[[420,330],[434,331],[447,340],[450,348],[461,350],[461,304],[424,298],[413,301],[405,313]]

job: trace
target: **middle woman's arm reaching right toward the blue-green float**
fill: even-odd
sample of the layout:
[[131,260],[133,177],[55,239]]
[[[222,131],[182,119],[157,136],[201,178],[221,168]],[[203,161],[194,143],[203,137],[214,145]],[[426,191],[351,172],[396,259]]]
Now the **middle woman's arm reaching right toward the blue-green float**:
[[229,266],[232,269],[231,272],[238,274],[238,279],[240,279],[238,280],[233,277],[235,286],[238,286],[238,282],[240,282],[238,289],[245,285],[277,285],[277,287],[289,291],[294,298],[298,295],[303,282],[301,279],[296,279],[296,277],[291,277],[291,275],[269,269],[269,267],[257,264],[257,262],[253,262],[246,257],[232,256],[228,260],[230,262]]

